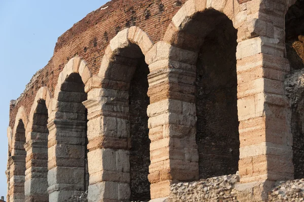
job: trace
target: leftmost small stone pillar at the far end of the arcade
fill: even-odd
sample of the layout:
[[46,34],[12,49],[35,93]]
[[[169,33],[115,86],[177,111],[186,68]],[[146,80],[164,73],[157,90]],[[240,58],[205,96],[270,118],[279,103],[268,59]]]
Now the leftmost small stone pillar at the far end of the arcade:
[[24,172],[25,155],[16,155],[9,158],[10,165],[10,201],[24,202]]

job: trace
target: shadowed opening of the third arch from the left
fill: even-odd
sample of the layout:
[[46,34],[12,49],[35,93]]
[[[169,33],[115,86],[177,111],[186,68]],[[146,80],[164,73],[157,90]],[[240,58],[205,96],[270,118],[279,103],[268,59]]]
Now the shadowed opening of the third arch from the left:
[[[58,94],[58,111],[56,118],[60,119],[64,132],[60,134],[62,146],[65,148],[63,160],[66,179],[61,182],[75,184],[71,186],[69,194],[78,195],[88,190],[88,137],[87,137],[87,109],[83,102],[87,100],[85,85],[79,73],[68,75],[61,85]],[[74,179],[68,179],[73,176]]]

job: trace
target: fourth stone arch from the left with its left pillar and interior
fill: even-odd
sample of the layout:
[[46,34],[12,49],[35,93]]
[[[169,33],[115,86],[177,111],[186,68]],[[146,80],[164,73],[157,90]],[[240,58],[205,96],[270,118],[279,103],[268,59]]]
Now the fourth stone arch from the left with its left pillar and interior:
[[[146,93],[149,70],[144,55],[153,45],[143,30],[132,26],[112,38],[105,50],[98,74],[101,78],[101,89],[88,94],[89,97],[91,93],[94,96],[99,95],[98,100],[101,100],[99,116],[93,113],[95,117],[89,118],[88,123],[89,162],[96,161],[96,156],[100,156],[98,162],[101,164],[89,164],[90,177],[94,179],[90,181],[89,201],[150,199],[146,115],[149,103]],[[94,109],[93,101],[90,100],[86,106],[91,117],[90,111],[97,109]],[[101,125],[101,137],[97,135],[96,125]],[[93,126],[95,131],[90,129]],[[109,164],[112,166],[109,167]],[[103,179],[97,178],[100,172],[104,173]],[[122,177],[117,179],[110,176],[113,172]],[[98,194],[102,186],[105,186],[104,191],[108,193],[104,196]],[[113,189],[118,192],[113,192]]]

